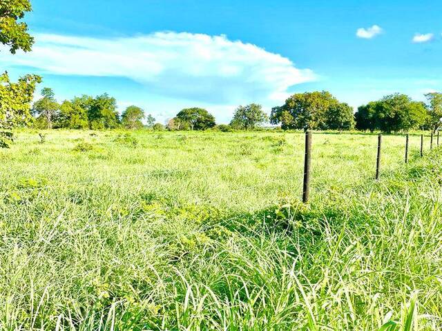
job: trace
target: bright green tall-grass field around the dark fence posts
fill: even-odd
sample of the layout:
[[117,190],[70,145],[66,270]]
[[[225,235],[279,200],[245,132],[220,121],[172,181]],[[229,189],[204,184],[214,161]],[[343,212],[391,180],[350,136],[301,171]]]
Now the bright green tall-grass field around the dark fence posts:
[[302,205],[301,133],[19,132],[0,330],[441,330],[442,149],[313,139]]

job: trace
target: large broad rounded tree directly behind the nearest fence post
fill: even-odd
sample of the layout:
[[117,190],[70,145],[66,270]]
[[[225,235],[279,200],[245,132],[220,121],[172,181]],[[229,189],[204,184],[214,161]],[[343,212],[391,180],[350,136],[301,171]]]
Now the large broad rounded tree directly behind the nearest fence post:
[[[338,105],[338,99],[327,91],[297,93],[289,97],[283,106],[271,110],[270,121],[272,124],[281,123],[284,130],[327,130],[327,114],[336,117],[336,111],[347,112],[345,106]],[[335,108],[334,111],[329,110],[331,107]]]

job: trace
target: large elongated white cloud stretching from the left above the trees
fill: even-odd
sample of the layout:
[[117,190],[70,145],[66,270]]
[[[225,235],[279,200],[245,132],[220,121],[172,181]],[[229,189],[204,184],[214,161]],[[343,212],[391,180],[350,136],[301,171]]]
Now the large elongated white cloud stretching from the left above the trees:
[[[155,32],[124,38],[36,34],[32,52],[0,61],[43,73],[125,77],[153,93],[211,103],[287,97],[287,89],[313,81],[311,70],[289,59],[225,36]],[[87,91],[85,91],[87,92]]]

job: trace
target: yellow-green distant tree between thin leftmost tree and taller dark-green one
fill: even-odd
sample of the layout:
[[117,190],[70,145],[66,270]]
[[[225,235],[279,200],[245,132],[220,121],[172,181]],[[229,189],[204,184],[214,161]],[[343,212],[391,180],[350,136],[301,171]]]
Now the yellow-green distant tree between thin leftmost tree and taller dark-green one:
[[80,98],[61,103],[59,127],[69,129],[86,129],[89,126],[87,109]]

